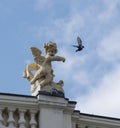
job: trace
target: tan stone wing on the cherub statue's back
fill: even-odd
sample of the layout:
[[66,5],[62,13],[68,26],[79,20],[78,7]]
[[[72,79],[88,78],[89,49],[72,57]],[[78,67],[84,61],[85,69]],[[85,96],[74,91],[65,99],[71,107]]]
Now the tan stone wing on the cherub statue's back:
[[37,64],[41,65],[45,59],[44,56],[41,56],[41,54],[42,54],[41,50],[36,47],[31,47],[30,49],[31,49],[32,55],[34,57],[34,61]]

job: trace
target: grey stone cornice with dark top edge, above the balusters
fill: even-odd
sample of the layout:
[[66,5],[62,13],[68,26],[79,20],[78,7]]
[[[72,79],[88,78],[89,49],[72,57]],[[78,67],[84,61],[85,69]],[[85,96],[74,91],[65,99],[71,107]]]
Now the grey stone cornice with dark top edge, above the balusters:
[[28,95],[0,93],[0,107],[38,109],[38,100]]

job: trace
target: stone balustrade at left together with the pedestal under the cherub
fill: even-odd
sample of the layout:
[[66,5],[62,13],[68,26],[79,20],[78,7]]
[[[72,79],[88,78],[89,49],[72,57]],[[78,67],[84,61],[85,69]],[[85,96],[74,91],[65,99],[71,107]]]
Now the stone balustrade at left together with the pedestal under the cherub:
[[0,93],[0,128],[72,128],[75,104],[63,97]]

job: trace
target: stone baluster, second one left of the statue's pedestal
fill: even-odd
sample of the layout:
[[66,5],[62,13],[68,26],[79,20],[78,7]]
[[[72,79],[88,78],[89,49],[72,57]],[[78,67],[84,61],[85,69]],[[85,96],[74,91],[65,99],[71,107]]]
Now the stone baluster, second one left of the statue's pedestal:
[[26,128],[26,121],[24,118],[25,111],[20,110],[19,128]]

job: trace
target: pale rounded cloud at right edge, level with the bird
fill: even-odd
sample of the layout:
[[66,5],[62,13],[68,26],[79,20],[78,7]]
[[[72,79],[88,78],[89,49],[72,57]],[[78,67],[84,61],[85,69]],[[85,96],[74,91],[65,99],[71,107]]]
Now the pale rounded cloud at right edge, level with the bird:
[[98,48],[98,55],[105,61],[120,60],[120,29],[113,30],[105,37]]

